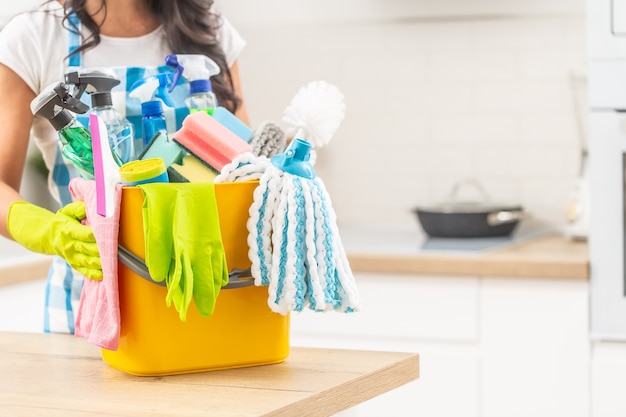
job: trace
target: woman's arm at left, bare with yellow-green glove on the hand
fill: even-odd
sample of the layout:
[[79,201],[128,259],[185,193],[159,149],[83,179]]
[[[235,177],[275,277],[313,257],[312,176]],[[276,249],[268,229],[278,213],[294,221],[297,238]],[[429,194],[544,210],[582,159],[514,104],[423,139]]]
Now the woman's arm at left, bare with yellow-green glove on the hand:
[[[10,101],[0,101],[0,234],[33,252],[59,255],[89,278],[102,279],[93,231],[80,221],[85,217],[84,202],[75,201],[53,213],[20,196],[35,94],[4,65],[0,65],[0,91],[11,91]],[[12,236],[7,227],[9,210]]]

